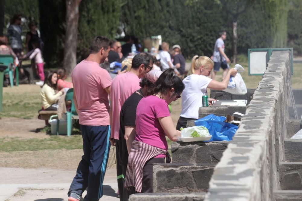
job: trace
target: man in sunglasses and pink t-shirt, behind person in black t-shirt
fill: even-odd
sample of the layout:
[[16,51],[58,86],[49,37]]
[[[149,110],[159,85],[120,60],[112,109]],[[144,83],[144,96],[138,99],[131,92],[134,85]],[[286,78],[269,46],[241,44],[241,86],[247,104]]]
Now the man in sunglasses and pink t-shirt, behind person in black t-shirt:
[[[148,53],[139,53],[132,59],[131,70],[127,73],[117,75],[111,84],[111,144],[116,144],[117,154],[117,186],[120,194],[123,194],[124,177],[119,156],[119,132],[120,132],[120,109],[126,99],[135,91],[140,89],[140,78],[144,77],[153,68],[154,59]],[[121,176],[123,175],[123,176]]]

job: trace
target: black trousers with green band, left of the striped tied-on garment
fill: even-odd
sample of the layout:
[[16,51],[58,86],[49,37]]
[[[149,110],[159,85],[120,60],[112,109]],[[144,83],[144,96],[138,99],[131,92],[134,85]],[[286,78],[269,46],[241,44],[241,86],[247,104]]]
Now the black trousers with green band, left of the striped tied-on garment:
[[[129,199],[129,196],[134,192],[134,189],[131,189],[131,191],[124,188],[125,178],[126,178],[126,170],[127,170],[127,164],[122,164],[120,159],[120,140],[115,140],[115,150],[116,150],[116,172],[117,172],[117,187],[118,191],[120,193],[120,201],[127,201]],[[128,150],[124,150],[127,152]]]

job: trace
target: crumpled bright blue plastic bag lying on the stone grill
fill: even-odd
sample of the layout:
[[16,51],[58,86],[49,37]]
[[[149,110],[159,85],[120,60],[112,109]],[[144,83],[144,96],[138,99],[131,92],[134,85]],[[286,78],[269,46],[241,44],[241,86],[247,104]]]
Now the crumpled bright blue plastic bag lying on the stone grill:
[[230,141],[233,139],[238,126],[224,122],[226,117],[207,115],[204,118],[194,121],[195,126],[204,126],[209,130],[212,138],[208,142],[212,141]]

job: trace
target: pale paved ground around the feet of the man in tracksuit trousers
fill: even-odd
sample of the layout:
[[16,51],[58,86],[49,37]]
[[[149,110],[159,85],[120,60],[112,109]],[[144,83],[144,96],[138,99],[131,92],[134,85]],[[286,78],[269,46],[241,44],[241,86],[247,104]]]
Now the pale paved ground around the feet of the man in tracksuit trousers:
[[[75,170],[0,168],[0,175],[0,200],[63,201],[68,199],[67,192]],[[115,168],[106,171],[104,196],[100,200],[119,200]]]

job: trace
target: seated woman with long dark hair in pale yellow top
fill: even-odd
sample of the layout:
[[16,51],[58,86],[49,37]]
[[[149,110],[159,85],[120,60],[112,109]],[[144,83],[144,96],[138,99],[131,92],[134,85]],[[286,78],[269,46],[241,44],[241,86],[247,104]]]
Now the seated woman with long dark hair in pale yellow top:
[[41,90],[42,107],[44,110],[57,110],[56,102],[60,96],[64,94],[64,90],[57,91],[57,73],[50,71],[46,75],[46,79]]

